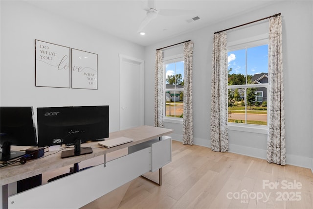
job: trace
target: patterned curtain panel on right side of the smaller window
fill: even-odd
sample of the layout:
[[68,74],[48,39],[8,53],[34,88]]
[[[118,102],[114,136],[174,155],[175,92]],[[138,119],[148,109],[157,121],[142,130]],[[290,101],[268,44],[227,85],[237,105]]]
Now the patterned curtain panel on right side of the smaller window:
[[192,57],[194,44],[188,41],[184,47],[184,107],[182,122],[182,143],[193,145],[193,116],[192,116]]

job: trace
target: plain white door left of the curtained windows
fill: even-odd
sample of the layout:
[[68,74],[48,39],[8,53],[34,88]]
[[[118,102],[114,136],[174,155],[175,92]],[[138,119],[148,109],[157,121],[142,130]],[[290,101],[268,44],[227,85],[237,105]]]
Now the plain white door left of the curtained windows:
[[144,125],[144,61],[119,55],[119,130]]

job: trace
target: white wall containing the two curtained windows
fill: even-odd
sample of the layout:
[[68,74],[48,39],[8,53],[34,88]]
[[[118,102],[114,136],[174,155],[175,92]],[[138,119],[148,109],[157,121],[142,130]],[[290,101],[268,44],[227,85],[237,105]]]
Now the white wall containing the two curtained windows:
[[[162,41],[145,48],[145,122],[153,125],[155,50],[191,39],[193,54],[193,116],[195,144],[210,146],[212,41],[216,31],[258,20],[276,13],[283,20],[283,66],[286,111],[286,152],[288,164],[313,168],[313,49],[312,1],[278,1],[230,20],[208,25],[198,31]],[[249,30],[250,26],[245,27]],[[243,28],[241,28],[243,29]],[[250,33],[253,30],[250,29]],[[227,33],[230,34],[231,31]],[[301,34],[300,34],[301,33]],[[205,95],[205,96],[203,96]],[[182,125],[165,123],[175,129],[173,139],[182,139]],[[229,130],[231,152],[266,158],[267,135]]]

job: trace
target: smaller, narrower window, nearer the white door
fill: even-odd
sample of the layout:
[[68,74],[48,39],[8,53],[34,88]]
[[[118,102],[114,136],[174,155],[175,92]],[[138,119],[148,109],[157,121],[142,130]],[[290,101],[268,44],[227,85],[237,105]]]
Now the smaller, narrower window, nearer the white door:
[[164,59],[165,117],[181,120],[183,117],[184,61],[183,55]]

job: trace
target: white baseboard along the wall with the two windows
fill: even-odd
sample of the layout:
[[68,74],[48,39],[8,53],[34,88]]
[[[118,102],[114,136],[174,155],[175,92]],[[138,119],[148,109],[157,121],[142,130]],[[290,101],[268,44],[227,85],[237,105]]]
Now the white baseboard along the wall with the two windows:
[[[182,141],[182,135],[171,134],[170,136],[172,137],[172,140]],[[194,138],[194,144],[211,148],[209,139]],[[267,151],[238,144],[229,144],[229,152],[259,159],[266,159]],[[313,158],[286,154],[286,164],[309,168],[313,173]]]

